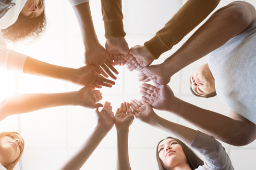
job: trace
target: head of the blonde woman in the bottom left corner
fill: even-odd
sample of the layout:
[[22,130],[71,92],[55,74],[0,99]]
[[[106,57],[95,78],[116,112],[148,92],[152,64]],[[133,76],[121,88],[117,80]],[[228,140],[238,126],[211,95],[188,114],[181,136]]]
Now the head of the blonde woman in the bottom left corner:
[[23,151],[24,140],[19,133],[0,133],[0,170],[13,170]]

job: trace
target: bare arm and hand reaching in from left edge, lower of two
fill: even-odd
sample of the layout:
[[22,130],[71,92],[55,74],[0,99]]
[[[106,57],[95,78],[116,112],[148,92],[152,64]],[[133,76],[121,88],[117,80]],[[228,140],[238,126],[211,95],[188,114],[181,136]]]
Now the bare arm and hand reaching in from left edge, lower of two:
[[99,90],[85,86],[79,91],[15,95],[0,103],[0,121],[9,115],[57,106],[77,105],[90,109],[102,107],[102,104],[97,103],[102,99],[101,94]]

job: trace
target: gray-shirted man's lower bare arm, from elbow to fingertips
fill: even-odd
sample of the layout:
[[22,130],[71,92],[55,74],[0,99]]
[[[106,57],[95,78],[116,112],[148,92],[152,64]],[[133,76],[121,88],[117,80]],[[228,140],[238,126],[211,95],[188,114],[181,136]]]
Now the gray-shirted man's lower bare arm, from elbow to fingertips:
[[173,113],[220,141],[244,146],[256,139],[256,125],[233,110],[227,117],[202,109],[176,98],[168,85],[142,84],[140,90],[142,100],[153,108]]

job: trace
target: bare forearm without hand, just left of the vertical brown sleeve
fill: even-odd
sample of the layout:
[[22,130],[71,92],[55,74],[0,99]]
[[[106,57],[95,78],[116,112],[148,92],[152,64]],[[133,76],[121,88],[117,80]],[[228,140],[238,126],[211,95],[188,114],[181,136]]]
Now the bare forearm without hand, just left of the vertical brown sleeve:
[[73,10],[80,27],[85,50],[98,45],[98,37],[94,29],[89,2],[75,5]]

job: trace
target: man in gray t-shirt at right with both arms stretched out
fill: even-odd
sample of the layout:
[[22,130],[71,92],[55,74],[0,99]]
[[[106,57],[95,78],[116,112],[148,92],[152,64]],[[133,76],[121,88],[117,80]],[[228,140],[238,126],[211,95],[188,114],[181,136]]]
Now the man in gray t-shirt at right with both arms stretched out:
[[[227,22],[226,18],[229,18],[229,22]],[[149,77],[144,77],[145,79],[141,77],[140,79],[144,79],[143,81],[154,79],[153,82],[157,83],[157,89],[151,94],[150,92],[153,92],[156,87],[147,84],[142,85],[143,100],[153,104],[152,106],[154,108],[169,110],[192,123],[208,135],[214,136],[228,144],[244,146],[254,141],[256,139],[255,103],[253,102],[255,88],[251,83],[254,84],[255,68],[245,63],[247,61],[253,65],[255,62],[253,52],[254,44],[252,43],[255,32],[255,18],[255,8],[251,4],[242,1],[232,2],[216,11],[209,20],[199,28],[176,53],[166,59],[163,64],[145,68],[147,72],[150,72],[148,74]],[[224,46],[220,47],[221,45]],[[216,88],[221,102],[231,108],[229,117],[183,102],[175,98],[170,87],[165,85],[170,81],[170,75],[173,75],[174,72],[194,62],[196,59],[207,55],[216,48],[219,49],[216,50],[216,53],[213,52],[215,56],[209,57],[209,67],[204,65],[198,68],[190,78],[190,81],[191,84],[193,83],[192,89],[198,94],[204,94],[204,96],[214,93]],[[246,55],[244,56],[243,53]],[[240,59],[238,59],[239,55],[241,55]],[[231,58],[236,59],[231,60]],[[220,65],[221,62],[232,64]],[[213,65],[216,66],[214,67]],[[219,67],[222,66],[222,68],[220,69],[217,65]],[[215,71],[212,72],[209,68]],[[246,68],[248,68],[248,70],[242,73]],[[150,77],[151,74],[156,74],[156,76],[153,76],[154,78],[152,76]],[[233,75],[236,77],[233,77]],[[212,76],[217,78],[217,81],[215,79],[213,80]],[[240,77],[240,80],[237,79],[238,77]],[[242,85],[243,91],[240,91],[239,88],[241,88],[241,86],[239,86],[239,84],[245,79],[247,79],[246,85]],[[213,81],[219,84],[214,84]],[[164,86],[161,87],[159,84]],[[149,89],[150,92],[147,91]],[[206,93],[204,93],[204,91]],[[250,91],[252,91],[252,93]],[[167,97],[165,93],[168,93],[169,96]],[[167,100],[170,106],[168,108],[162,104],[160,106],[158,103],[159,100]],[[251,101],[246,103],[247,100]],[[176,107],[177,104],[181,107]],[[197,119],[198,117],[200,117],[200,120]]]

